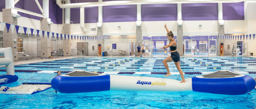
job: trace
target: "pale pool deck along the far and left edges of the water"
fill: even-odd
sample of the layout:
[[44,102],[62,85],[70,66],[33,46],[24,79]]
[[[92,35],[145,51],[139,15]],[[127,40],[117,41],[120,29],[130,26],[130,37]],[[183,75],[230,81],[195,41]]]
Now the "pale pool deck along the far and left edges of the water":
[[[98,58],[99,56],[87,56],[88,58]],[[149,57],[134,57],[134,56],[106,56],[102,58],[156,58],[156,57],[168,57],[166,55],[159,55],[159,56],[149,56]],[[195,55],[195,56],[180,56],[180,57],[220,57],[220,56],[208,56],[208,55]],[[231,56],[221,56],[221,57],[231,57]],[[242,57],[242,56],[234,56],[234,57]],[[20,60],[18,62],[14,62],[14,65],[22,65],[22,64],[31,64],[31,63],[39,63],[45,61],[54,61],[54,60],[62,60],[62,59],[71,59],[74,58],[73,56],[58,56],[58,58],[53,59],[41,59],[41,58],[33,58],[29,60]],[[256,58],[256,56],[251,56],[251,58]],[[0,67],[5,67],[2,65]]]

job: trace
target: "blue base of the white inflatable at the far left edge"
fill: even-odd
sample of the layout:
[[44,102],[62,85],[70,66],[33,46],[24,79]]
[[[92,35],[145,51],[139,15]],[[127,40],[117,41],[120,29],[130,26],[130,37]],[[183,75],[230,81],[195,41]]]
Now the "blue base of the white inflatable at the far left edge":
[[0,75],[0,85],[13,83],[13,82],[16,82],[17,80],[18,80],[17,75],[9,75],[9,74]]

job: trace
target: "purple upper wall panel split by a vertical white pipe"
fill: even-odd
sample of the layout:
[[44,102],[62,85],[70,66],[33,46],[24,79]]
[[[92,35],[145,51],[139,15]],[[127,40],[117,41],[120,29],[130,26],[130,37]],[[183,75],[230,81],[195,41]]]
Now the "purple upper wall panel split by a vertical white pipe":
[[[98,7],[85,7],[85,23],[96,23],[98,21]],[[70,9],[70,21],[80,23],[80,8]]]

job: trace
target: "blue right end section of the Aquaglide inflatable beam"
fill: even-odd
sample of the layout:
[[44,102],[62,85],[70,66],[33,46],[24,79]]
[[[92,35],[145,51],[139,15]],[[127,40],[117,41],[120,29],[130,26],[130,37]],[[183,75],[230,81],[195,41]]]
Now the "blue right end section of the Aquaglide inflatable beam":
[[192,88],[198,92],[225,95],[243,95],[255,88],[254,78],[245,75],[239,78],[197,78],[192,77]]

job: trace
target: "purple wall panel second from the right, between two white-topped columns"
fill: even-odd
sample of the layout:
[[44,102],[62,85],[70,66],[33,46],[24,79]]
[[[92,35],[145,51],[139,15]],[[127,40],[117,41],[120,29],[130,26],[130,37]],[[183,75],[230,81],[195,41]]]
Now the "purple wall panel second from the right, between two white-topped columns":
[[218,3],[184,3],[181,6],[184,21],[218,20]]

